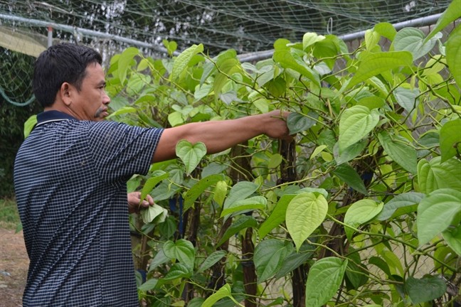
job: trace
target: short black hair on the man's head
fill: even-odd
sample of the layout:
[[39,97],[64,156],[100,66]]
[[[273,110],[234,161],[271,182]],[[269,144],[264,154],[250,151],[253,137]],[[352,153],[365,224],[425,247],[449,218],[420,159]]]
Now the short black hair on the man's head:
[[102,63],[100,53],[84,45],[60,43],[41,53],[33,68],[33,94],[42,107],[50,107],[64,82],[81,90],[88,65]]

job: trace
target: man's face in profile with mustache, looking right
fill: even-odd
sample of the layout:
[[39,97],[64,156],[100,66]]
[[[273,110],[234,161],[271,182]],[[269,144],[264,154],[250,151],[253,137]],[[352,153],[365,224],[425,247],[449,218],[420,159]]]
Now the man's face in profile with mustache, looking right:
[[98,63],[90,64],[85,70],[80,91],[73,88],[72,109],[78,119],[102,121],[109,113],[110,98],[105,92],[105,74]]

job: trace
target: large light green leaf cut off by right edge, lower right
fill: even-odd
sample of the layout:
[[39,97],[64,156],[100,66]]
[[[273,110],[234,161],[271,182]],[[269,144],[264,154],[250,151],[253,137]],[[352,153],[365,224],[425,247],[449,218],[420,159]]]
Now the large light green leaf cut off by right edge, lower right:
[[419,245],[446,230],[458,212],[461,212],[461,192],[458,190],[440,188],[423,198],[416,217]]

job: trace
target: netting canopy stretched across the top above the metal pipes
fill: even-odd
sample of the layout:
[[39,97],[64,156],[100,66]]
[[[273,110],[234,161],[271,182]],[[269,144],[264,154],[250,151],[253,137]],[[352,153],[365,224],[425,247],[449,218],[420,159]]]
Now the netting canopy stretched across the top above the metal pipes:
[[[341,35],[443,12],[449,0],[174,0],[174,1],[0,1],[3,26],[31,26],[31,20],[73,27],[55,38],[82,40],[78,28],[157,46],[176,41],[179,50],[203,43],[211,55],[268,50],[277,38],[300,41],[306,32]],[[31,32],[46,35],[46,27]],[[0,33],[1,35],[1,33]],[[128,43],[129,44],[129,43]]]

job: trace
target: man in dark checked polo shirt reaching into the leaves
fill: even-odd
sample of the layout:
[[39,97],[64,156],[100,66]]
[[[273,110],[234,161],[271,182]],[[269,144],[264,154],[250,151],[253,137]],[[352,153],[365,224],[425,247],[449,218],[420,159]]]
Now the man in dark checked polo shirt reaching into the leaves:
[[[287,138],[286,112],[142,129],[107,117],[100,54],[60,44],[36,60],[33,90],[44,107],[15,161],[14,183],[31,263],[23,306],[139,306],[127,181],[176,157],[176,143],[208,154],[254,136]],[[226,136],[226,137],[223,137]],[[144,206],[152,204],[152,198]]]

